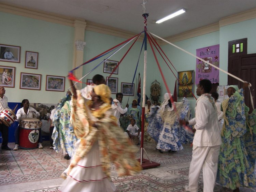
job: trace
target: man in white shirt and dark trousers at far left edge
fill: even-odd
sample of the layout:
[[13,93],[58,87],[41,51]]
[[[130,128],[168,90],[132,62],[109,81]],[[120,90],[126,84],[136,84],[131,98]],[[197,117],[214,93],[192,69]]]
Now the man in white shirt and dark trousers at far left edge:
[[[4,87],[0,86],[0,111],[2,111],[4,108],[8,108],[8,99],[7,97],[4,95],[5,94],[5,89]],[[1,122],[0,122],[1,123]],[[0,124],[0,131],[2,133],[2,137],[3,137],[3,142],[2,142],[2,146],[1,149],[2,150],[11,150],[8,147],[8,126],[6,126],[4,123]]]

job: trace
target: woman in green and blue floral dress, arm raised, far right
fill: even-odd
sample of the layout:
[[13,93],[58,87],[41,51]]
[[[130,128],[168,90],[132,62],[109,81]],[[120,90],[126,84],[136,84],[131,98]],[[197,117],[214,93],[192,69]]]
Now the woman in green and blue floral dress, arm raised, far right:
[[237,86],[229,86],[229,99],[222,102],[224,124],[216,182],[233,191],[239,191],[239,187],[256,187],[254,167],[243,141],[246,133],[243,90],[247,86],[248,83],[244,83],[240,90]]

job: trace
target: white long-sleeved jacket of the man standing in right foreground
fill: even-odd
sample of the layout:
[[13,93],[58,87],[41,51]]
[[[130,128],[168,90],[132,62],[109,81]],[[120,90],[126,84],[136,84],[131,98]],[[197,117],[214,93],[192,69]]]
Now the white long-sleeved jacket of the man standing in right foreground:
[[194,128],[196,129],[193,145],[198,147],[221,145],[217,112],[205,94],[198,98],[195,110],[196,117],[189,120],[189,125],[195,125]]

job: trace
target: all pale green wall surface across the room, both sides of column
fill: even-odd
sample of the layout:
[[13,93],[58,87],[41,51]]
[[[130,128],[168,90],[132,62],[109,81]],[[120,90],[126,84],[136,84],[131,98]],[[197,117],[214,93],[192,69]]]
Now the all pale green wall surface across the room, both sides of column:
[[[66,76],[68,71],[72,69],[74,28],[3,12],[0,12],[0,18],[0,25],[4,26],[0,29],[0,44],[21,46],[20,63],[0,61],[0,65],[16,67],[15,88],[6,88],[6,96],[9,98],[9,102],[20,102],[22,99],[27,98],[31,103],[57,103],[58,100],[65,95],[65,92],[45,91],[46,75]],[[193,54],[196,54],[196,49],[198,48],[220,44],[220,67],[227,70],[228,41],[248,38],[248,54],[256,53],[256,40],[254,37],[254,31],[256,30],[255,24],[256,19],[246,20],[240,23],[221,27],[220,30],[216,32],[175,42],[174,44]],[[123,38],[86,30],[84,62],[123,41],[125,41]],[[112,76],[118,78],[118,92],[121,91],[121,82],[132,82],[141,44],[142,42],[136,42],[134,44],[126,58],[120,64],[118,74],[114,74]],[[130,45],[131,43],[109,59],[120,61]],[[196,59],[194,57],[183,53],[181,50],[169,44],[162,45],[161,47],[172,61],[177,71],[195,70]],[[147,49],[146,94],[148,97],[150,96],[151,83],[156,79],[161,84],[162,101],[163,94],[167,92],[167,90],[163,84],[163,80],[149,44]],[[26,50],[39,52],[37,70],[25,68]],[[175,77],[161,57],[159,55],[157,57],[170,92],[173,93]],[[83,75],[93,69],[105,58],[106,56],[84,65]],[[134,81],[134,96],[130,97],[129,103],[131,103],[133,98],[137,99],[138,72],[141,73],[141,83],[143,83],[143,60],[144,50],[140,57],[138,71]],[[19,89],[20,72],[42,74],[41,90]],[[175,70],[173,70],[173,72],[177,75]],[[85,77],[83,81],[86,82],[86,79],[91,79],[95,74],[102,74],[104,77],[109,75],[108,73],[103,73],[102,64],[94,72]],[[219,76],[220,85],[226,85],[227,75],[220,72]],[[66,78],[65,91],[68,89],[68,85]],[[141,87],[141,89],[142,88],[143,87]],[[112,94],[112,98],[115,98],[114,94]],[[182,98],[179,98],[179,100],[181,99]],[[189,98],[189,100],[191,107],[194,108],[196,100],[193,98]],[[128,96],[124,96],[123,105],[125,105],[127,101]]]

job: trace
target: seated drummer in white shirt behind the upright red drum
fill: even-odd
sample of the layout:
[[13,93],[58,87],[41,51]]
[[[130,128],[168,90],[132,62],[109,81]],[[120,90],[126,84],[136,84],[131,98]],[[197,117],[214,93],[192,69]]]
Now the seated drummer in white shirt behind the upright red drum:
[[[16,121],[20,121],[22,118],[34,118],[34,117],[39,117],[40,113],[37,112],[37,110],[35,110],[33,107],[29,106],[29,101],[27,99],[22,100],[22,103],[20,104],[20,106],[22,108],[20,108],[17,111],[17,120]],[[34,117],[33,117],[34,115]],[[18,126],[14,132],[14,137],[15,137],[15,146],[13,148],[14,151],[17,151],[19,149],[19,129],[20,127]],[[39,140],[38,140],[38,148],[42,149],[42,142],[43,142],[43,138],[42,138],[42,134],[41,134],[41,129],[39,130]]]

